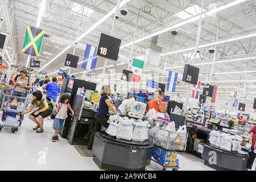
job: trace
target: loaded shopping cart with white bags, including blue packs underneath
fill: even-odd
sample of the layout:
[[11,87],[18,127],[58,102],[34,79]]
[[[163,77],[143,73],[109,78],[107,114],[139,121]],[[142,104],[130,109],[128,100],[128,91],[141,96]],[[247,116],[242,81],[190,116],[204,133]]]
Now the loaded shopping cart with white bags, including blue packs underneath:
[[185,151],[187,147],[188,133],[186,126],[180,126],[175,129],[175,122],[170,122],[167,113],[154,113],[151,115],[150,128],[148,129],[148,139],[154,143],[154,151],[151,160],[160,164],[162,170],[171,168],[177,171],[179,167],[179,159],[177,159],[177,151]]

